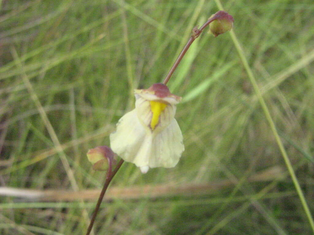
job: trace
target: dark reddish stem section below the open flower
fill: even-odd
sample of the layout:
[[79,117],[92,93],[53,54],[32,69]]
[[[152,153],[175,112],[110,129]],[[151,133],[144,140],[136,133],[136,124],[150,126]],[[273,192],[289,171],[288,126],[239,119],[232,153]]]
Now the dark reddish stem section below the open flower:
[[104,198],[105,196],[105,193],[106,193],[106,190],[111,182],[111,180],[113,179],[113,177],[116,175],[117,171],[120,169],[120,167],[122,166],[124,160],[121,159],[118,164],[116,165],[116,168],[111,172],[111,169],[112,169],[112,161],[109,162],[109,168],[108,168],[108,171],[107,171],[107,176],[106,176],[106,181],[105,181],[105,184],[101,190],[101,193],[99,195],[99,198],[98,198],[98,201],[97,201],[97,204],[95,206],[95,210],[94,210],[94,213],[93,213],[93,216],[92,218],[90,219],[90,223],[89,223],[89,226],[87,228],[87,232],[86,232],[86,235],[89,235],[90,231],[92,230],[92,227],[94,225],[94,222],[95,222],[95,219],[96,219],[96,216],[97,216],[97,213],[99,211],[99,208],[100,208],[100,204],[102,202],[102,199]]

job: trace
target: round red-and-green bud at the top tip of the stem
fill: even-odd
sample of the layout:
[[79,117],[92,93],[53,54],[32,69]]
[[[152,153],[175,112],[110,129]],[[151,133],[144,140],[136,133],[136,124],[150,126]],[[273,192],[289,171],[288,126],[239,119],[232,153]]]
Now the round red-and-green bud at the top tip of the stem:
[[218,11],[210,18],[213,17],[216,18],[216,20],[209,24],[209,30],[212,34],[214,34],[215,37],[217,37],[219,34],[223,34],[232,29],[234,19],[227,12]]

